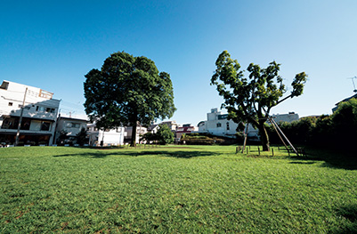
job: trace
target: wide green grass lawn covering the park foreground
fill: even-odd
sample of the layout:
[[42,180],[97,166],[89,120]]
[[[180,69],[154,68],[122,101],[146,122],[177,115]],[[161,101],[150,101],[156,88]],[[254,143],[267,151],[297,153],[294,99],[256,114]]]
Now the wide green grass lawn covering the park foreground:
[[357,170],[274,152],[0,149],[0,233],[357,232]]

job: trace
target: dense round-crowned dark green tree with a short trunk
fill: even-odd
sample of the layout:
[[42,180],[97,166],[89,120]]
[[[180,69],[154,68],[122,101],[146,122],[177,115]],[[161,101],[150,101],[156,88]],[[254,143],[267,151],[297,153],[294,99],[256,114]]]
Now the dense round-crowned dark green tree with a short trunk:
[[101,70],[92,69],[85,78],[86,114],[99,128],[133,126],[131,146],[135,145],[138,123],[148,126],[174,114],[170,76],[158,72],[154,61],[146,57],[115,52]]

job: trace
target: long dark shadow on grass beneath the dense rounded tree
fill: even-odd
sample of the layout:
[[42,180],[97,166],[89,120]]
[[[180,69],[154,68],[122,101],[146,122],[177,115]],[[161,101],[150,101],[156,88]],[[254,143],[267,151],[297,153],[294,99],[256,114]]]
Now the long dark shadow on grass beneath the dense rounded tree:
[[54,155],[53,157],[89,157],[89,158],[103,158],[109,156],[149,156],[157,155],[160,157],[176,157],[176,158],[191,158],[191,157],[208,157],[216,155],[211,151],[199,151],[199,150],[142,150],[142,151],[115,151],[109,152],[108,150],[82,152],[73,154]]

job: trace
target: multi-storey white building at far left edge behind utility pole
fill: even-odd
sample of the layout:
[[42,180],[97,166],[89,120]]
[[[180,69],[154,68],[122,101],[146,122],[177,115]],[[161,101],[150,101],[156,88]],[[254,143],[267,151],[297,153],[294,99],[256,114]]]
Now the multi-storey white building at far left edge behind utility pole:
[[52,145],[59,106],[53,93],[4,80],[0,86],[0,143],[15,143],[22,113],[19,145]]

